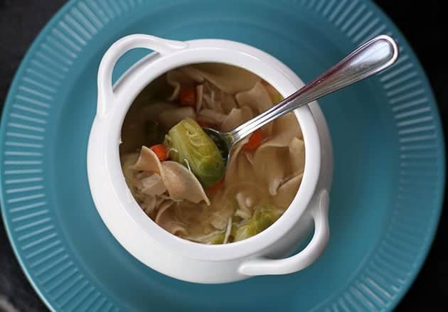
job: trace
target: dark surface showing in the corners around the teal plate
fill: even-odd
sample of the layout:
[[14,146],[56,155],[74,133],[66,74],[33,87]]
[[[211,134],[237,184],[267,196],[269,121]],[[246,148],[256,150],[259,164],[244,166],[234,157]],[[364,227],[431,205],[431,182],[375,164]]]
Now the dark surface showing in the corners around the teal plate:
[[[447,115],[448,69],[446,1],[375,1],[404,33],[420,58],[434,90],[442,116]],[[3,106],[14,72],[40,29],[65,3],[63,0],[0,0],[0,108]],[[445,74],[445,75],[444,75]],[[445,134],[445,137],[447,135]],[[395,311],[448,311],[447,214],[442,214],[439,230],[422,271]],[[46,311],[18,265],[0,224],[0,311],[3,299],[19,311]]]

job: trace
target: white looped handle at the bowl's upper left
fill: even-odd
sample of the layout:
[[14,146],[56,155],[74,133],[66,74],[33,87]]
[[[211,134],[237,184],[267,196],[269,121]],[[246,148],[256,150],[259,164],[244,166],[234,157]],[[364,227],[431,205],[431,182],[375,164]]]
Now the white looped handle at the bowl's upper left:
[[102,57],[100,68],[98,69],[97,116],[104,116],[107,112],[107,107],[110,107],[114,102],[112,70],[114,70],[117,60],[124,53],[134,48],[147,48],[165,55],[187,46],[188,43],[182,41],[172,41],[143,34],[129,35],[115,41]]

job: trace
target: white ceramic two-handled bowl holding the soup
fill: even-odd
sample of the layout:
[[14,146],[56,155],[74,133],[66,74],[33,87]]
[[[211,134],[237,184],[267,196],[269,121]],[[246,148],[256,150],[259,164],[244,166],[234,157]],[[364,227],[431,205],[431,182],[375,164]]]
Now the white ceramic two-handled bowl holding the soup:
[[[117,60],[132,48],[154,50],[112,88]],[[132,35],[115,42],[98,70],[97,115],[87,149],[87,173],[95,206],[112,235],[139,261],[184,281],[224,283],[265,274],[288,274],[308,267],[329,240],[331,141],[316,102],[295,111],[305,144],[302,184],[286,212],[267,230],[232,244],[206,245],[171,235],[147,217],[127,188],[119,161],[124,116],[142,89],[159,75],[192,63],[227,63],[262,77],[284,97],[304,83],[287,66],[249,45],[223,40],[168,41]],[[294,251],[313,225],[314,235]],[[282,258],[286,257],[286,258]]]

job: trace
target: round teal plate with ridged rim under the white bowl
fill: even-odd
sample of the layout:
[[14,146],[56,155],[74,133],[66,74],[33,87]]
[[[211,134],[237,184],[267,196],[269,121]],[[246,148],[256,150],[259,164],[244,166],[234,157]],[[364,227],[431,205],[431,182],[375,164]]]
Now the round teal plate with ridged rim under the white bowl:
[[[190,284],[145,267],[110,235],[87,185],[87,137],[100,58],[130,33],[241,41],[304,81],[372,36],[398,40],[393,68],[320,101],[334,144],[331,238],[309,269]],[[127,53],[114,76],[145,53]],[[71,1],[33,43],[6,100],[1,211],[23,270],[53,310],[388,311],[437,227],[442,142],[422,68],[369,1]]]

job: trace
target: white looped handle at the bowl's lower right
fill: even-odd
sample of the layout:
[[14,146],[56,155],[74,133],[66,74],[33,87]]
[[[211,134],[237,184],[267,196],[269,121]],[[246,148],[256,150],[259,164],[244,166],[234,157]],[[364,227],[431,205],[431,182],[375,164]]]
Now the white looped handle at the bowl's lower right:
[[239,267],[240,274],[247,276],[289,274],[315,262],[329,241],[328,210],[329,193],[322,190],[310,211],[314,219],[314,235],[309,244],[298,254],[285,259],[260,257],[243,262]]

